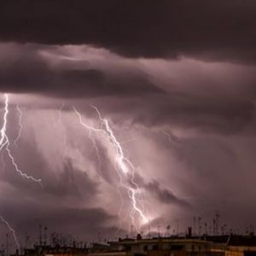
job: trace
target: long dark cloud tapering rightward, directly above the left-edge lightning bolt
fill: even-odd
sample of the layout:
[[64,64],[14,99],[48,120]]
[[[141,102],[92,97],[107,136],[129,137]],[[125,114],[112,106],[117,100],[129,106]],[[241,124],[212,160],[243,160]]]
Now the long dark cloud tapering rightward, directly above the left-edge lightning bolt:
[[[38,51],[39,45],[2,45],[0,49],[0,90],[3,92],[35,93],[56,97],[83,98],[90,96],[132,96],[162,93],[147,75],[127,71],[106,73],[99,69],[58,69],[49,67]],[[9,52],[6,55],[3,51]]]

